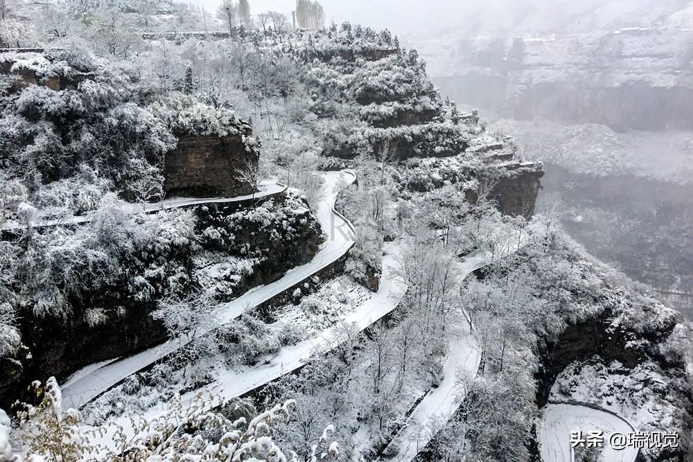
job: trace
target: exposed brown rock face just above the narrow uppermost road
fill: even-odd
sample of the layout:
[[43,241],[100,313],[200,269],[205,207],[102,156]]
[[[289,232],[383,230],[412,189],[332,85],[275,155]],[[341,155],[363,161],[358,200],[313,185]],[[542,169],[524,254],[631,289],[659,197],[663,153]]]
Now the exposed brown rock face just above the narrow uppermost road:
[[248,148],[245,132],[225,137],[179,136],[178,146],[166,154],[164,191],[169,196],[234,197],[252,193],[240,180],[238,170],[258,163],[259,154]]

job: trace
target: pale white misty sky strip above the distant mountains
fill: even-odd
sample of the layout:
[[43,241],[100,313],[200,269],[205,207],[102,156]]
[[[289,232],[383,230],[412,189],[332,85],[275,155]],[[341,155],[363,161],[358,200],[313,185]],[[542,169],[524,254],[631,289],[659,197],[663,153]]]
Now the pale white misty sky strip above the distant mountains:
[[[295,0],[249,0],[253,14],[290,14]],[[221,0],[191,0],[216,11]],[[679,26],[693,19],[688,0],[322,0],[327,22],[351,21],[393,33],[519,36]]]

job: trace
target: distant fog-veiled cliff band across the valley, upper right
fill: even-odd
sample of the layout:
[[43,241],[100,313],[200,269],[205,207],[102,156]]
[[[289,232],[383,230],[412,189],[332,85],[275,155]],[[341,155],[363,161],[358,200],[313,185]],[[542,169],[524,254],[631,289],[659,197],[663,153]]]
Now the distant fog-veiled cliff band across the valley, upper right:
[[431,48],[430,59],[437,61],[432,66],[442,91],[504,117],[690,130],[691,44],[687,28],[626,28],[459,39],[447,56],[437,57]]

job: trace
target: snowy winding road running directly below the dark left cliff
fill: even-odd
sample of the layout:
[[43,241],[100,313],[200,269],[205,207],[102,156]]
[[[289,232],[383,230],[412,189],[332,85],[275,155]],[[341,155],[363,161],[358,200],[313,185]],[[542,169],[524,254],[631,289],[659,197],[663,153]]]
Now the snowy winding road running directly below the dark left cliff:
[[[326,241],[317,254],[315,254],[313,260],[310,260],[305,265],[290,269],[281,279],[274,283],[255,287],[238,297],[238,299],[220,305],[214,313],[218,319],[218,325],[235,319],[244,310],[254,308],[292,287],[292,285],[303,281],[305,278],[333,263],[351,248],[351,245],[353,245],[351,224],[333,211],[333,205],[337,195],[335,186],[340,184],[340,182],[351,183],[356,177],[349,172],[325,172],[323,175],[325,179],[323,186],[324,195],[319,202],[315,215],[320,222],[320,226],[322,226],[323,232],[326,234]],[[235,198],[235,200],[240,199]],[[185,201],[182,204],[188,205],[191,203],[193,202]],[[182,204],[177,204],[177,206],[182,206]],[[204,333],[206,332],[200,332],[199,335],[204,335]],[[164,344],[144,350],[137,355],[123,359],[114,359],[98,368],[87,366],[87,368],[78,371],[66,383],[62,384],[64,404],[67,407],[76,409],[82,407],[101,393],[119,384],[125,377],[141,371],[157,360],[173,353],[187,341],[188,338],[170,339]]]

